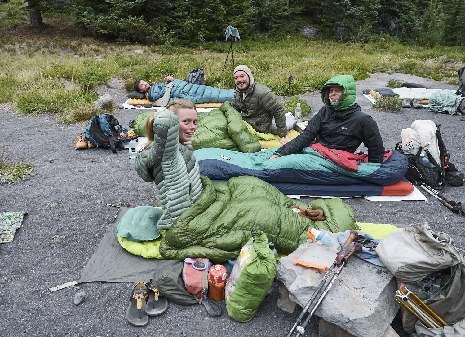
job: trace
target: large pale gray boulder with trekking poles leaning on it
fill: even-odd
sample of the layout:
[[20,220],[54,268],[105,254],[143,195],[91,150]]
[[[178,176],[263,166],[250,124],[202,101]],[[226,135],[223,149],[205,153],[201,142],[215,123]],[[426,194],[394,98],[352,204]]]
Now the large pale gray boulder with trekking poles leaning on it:
[[[340,233],[328,233],[337,238]],[[293,264],[311,245],[299,246],[287,257],[280,258],[276,277],[289,291],[289,298],[305,307],[324,271]],[[355,256],[344,267],[338,279],[319,305],[316,315],[336,324],[356,337],[382,337],[391,324],[399,304],[394,300],[397,283],[385,268]],[[278,301],[279,306],[283,301]],[[289,311],[289,304],[283,310]]]

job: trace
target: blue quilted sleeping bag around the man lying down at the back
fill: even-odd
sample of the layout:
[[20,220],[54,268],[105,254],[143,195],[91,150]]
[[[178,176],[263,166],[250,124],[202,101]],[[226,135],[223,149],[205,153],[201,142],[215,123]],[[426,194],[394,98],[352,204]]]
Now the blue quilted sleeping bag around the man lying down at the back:
[[[234,89],[226,90],[203,84],[187,83],[182,79],[174,79],[173,85],[169,102],[173,99],[188,99],[194,103],[223,103],[234,97]],[[153,102],[161,98],[165,94],[166,86],[166,83],[154,84],[149,91],[150,100]]]

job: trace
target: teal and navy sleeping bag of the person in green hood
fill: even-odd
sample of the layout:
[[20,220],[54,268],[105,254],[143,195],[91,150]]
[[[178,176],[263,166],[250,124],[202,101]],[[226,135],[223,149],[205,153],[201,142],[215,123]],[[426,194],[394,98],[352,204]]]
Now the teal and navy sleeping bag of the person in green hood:
[[[383,164],[359,163],[350,171],[323,157],[311,147],[300,154],[269,160],[274,149],[241,153],[206,148],[194,151],[200,174],[212,180],[250,175],[269,182],[286,194],[328,196],[382,195],[383,186],[404,179],[408,159],[398,151]],[[400,194],[402,195],[402,194]]]

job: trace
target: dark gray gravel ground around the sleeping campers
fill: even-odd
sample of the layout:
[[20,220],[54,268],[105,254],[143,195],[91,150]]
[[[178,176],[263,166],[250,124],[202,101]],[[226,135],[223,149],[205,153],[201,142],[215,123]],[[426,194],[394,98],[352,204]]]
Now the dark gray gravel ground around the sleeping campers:
[[[415,119],[432,119],[442,125],[451,161],[465,171],[463,150],[465,122],[458,116],[433,114],[427,109],[403,109],[380,112],[370,108],[362,96],[363,89],[385,86],[389,79],[424,83],[436,88],[450,88],[444,82],[405,74],[373,74],[357,81],[357,103],[377,121],[386,148],[400,141],[400,131]],[[118,80],[99,93],[124,101]],[[301,95],[312,102],[314,112],[323,105],[319,94]],[[127,203],[133,206],[158,206],[155,185],[144,182],[129,166],[128,152],[73,148],[74,138],[85,126],[59,124],[53,115],[25,117],[12,106],[1,105],[0,144],[7,145],[14,160],[26,157],[35,164],[36,173],[29,180],[0,186],[0,212],[27,211],[23,226],[13,243],[0,245],[3,265],[0,279],[0,336],[285,336],[297,312],[289,314],[276,306],[276,287],[261,305],[252,321],[241,324],[226,314],[211,318],[194,306],[169,304],[168,311],[152,317],[144,328],[135,328],[125,319],[133,284],[81,284],[80,290],[69,287],[40,297],[42,288],[79,278],[80,271],[100,243],[113,221],[116,208],[105,205]],[[117,110],[120,124],[127,126],[137,114],[134,110]],[[50,162],[50,159],[54,159]],[[465,202],[465,189],[449,187],[446,194]],[[101,195],[101,197],[100,197]],[[103,198],[103,204],[101,203]],[[311,198],[303,198],[309,202]],[[452,214],[436,200],[373,202],[364,198],[347,198],[361,222],[413,224],[432,221],[435,230],[452,234],[458,247],[465,247],[464,219]],[[73,304],[75,293],[85,291],[86,302]],[[312,319],[306,336],[318,336],[317,320]]]

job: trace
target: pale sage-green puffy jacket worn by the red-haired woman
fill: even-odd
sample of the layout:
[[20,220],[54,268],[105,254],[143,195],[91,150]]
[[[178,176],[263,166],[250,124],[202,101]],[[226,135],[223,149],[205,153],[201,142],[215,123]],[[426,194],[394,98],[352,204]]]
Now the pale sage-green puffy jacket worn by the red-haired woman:
[[169,229],[174,220],[193,205],[202,192],[199,163],[179,143],[179,119],[171,110],[162,110],[153,121],[154,141],[136,154],[136,172],[148,182],[155,181],[163,215],[158,229]]

